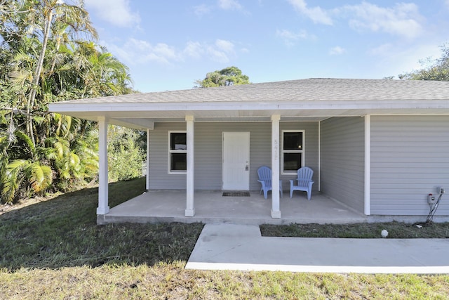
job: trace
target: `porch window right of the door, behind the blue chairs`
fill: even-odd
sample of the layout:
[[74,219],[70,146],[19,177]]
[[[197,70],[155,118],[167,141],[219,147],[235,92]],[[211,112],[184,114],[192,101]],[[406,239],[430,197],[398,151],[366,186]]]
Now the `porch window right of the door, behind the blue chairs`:
[[304,164],[304,131],[282,131],[282,174],[296,174]]

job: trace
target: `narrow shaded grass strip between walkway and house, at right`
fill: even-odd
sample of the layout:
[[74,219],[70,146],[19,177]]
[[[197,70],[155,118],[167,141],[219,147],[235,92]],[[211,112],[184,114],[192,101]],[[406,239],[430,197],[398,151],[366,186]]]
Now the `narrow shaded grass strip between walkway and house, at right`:
[[448,238],[449,222],[409,224],[356,223],[356,224],[290,224],[260,226],[263,236],[270,237],[340,237],[340,238],[382,238],[382,230],[388,231],[388,238]]

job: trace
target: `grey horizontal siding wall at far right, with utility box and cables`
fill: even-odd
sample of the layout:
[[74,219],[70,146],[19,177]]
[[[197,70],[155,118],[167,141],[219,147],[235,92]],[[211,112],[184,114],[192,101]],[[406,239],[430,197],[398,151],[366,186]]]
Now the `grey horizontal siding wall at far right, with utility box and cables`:
[[[448,116],[371,117],[371,214],[427,215],[427,195],[449,191]],[[436,215],[449,215],[448,194]]]

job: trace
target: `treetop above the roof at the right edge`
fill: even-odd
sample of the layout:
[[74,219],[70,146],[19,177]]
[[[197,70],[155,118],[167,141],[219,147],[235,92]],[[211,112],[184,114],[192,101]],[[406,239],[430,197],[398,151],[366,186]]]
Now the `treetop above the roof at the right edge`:
[[428,58],[421,62],[422,65],[427,65],[427,67],[406,74],[399,74],[399,79],[449,81],[449,44],[441,46],[441,51],[441,58],[433,61]]

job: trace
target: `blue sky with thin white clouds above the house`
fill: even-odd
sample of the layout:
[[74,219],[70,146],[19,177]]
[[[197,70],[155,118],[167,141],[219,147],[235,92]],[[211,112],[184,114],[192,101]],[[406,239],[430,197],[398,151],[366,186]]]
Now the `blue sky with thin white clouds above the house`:
[[85,0],[138,91],[192,89],[239,67],[253,83],[382,79],[439,58],[449,0]]

